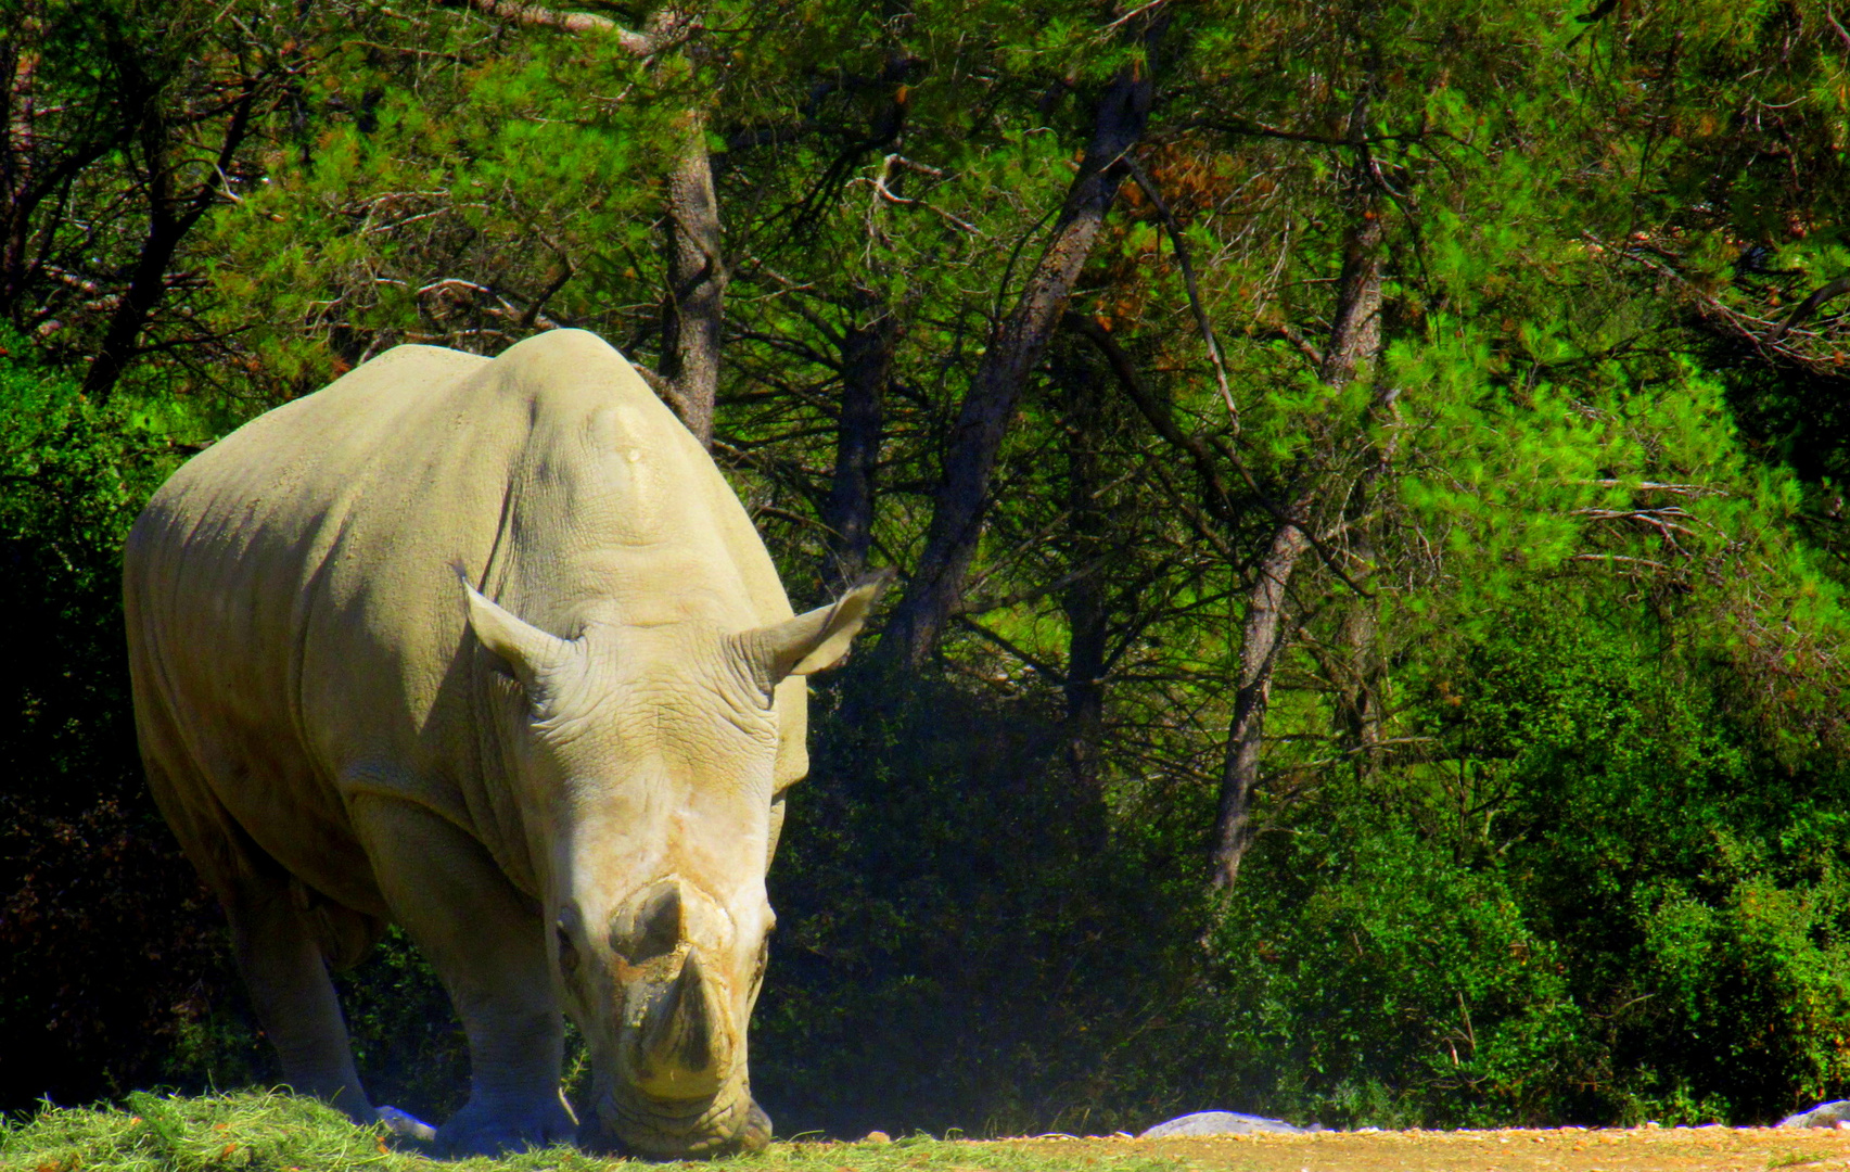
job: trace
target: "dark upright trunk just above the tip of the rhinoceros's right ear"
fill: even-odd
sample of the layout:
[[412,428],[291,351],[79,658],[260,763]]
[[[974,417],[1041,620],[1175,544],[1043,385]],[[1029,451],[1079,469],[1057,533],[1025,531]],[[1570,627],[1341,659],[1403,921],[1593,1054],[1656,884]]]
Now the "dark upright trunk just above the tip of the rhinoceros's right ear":
[[884,307],[871,326],[849,326],[842,339],[842,415],[834,431],[834,480],[823,502],[829,526],[831,591],[868,568],[873,548],[873,478],[881,461],[886,378],[899,341],[899,318]]

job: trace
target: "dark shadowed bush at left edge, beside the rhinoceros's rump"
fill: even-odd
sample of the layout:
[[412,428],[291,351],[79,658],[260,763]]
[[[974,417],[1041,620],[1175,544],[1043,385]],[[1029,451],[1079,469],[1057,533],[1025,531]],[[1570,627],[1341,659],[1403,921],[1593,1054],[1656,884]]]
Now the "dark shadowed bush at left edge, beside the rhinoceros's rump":
[[118,550],[174,465],[155,424],[174,411],[94,407],[20,339],[0,343],[0,1100],[24,1103],[159,1076],[226,981],[141,787],[122,661]]

